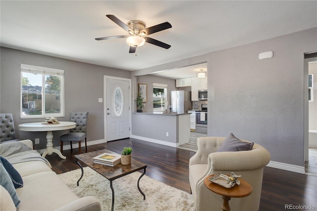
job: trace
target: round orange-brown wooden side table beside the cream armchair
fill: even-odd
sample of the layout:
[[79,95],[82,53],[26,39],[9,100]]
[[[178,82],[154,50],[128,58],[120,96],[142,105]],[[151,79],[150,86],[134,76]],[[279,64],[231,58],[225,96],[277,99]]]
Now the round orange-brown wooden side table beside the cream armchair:
[[222,205],[221,205],[222,211],[230,211],[229,200],[231,199],[231,197],[241,198],[241,197],[249,196],[252,193],[251,185],[241,178],[239,178],[240,185],[235,185],[232,188],[227,189],[225,187],[222,187],[220,185],[217,185],[211,182],[209,178],[213,175],[214,174],[207,176],[204,179],[204,184],[209,190],[222,196],[222,199],[223,199]]

